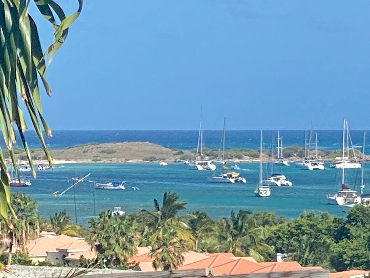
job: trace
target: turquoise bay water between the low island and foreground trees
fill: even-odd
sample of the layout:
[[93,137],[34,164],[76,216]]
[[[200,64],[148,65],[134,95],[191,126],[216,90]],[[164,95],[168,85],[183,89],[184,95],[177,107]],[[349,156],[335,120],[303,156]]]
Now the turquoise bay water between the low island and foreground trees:
[[[308,171],[294,165],[275,167],[274,172],[284,173],[293,182],[293,186],[271,187],[272,195],[269,198],[258,198],[253,194],[258,181],[259,164],[238,165],[244,169],[239,172],[245,176],[247,183],[207,183],[205,180],[212,172],[189,170],[182,163],[170,163],[166,167],[157,163],[89,163],[66,164],[64,168],[38,172],[37,179],[32,179],[32,186],[11,190],[24,191],[35,198],[39,203],[39,212],[44,217],[63,209],[75,215],[73,189],[60,197],[52,197],[51,194],[68,188],[72,177],[82,177],[87,173],[91,173],[89,179],[98,182],[126,181],[126,190],[95,191],[97,213],[113,209],[114,206],[121,206],[126,212],[151,210],[154,198],[161,201],[163,193],[171,191],[188,202],[189,212],[205,211],[212,218],[229,216],[232,209],[275,211],[287,218],[296,217],[304,210],[322,210],[343,215],[337,206],[326,204],[326,193],[336,192],[340,183],[338,170],[329,168],[329,165],[326,165],[328,169],[324,171]],[[369,176],[369,166],[365,165],[365,184],[370,182],[366,178]],[[264,168],[267,171],[266,165]],[[346,173],[346,182],[350,187],[353,188],[355,180],[359,185],[360,169],[348,169]],[[132,190],[132,186],[139,190]],[[86,224],[94,216],[91,184],[84,182],[75,186],[75,196],[78,222]]]

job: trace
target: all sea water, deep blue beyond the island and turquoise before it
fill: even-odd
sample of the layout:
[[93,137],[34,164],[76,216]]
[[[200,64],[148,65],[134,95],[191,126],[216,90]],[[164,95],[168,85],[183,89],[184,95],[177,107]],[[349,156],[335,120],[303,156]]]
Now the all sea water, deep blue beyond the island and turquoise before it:
[[[339,149],[342,132],[340,130],[319,130],[319,148]],[[369,133],[370,134],[370,133]],[[270,145],[272,136],[276,132],[263,133],[264,142]],[[280,132],[284,146],[303,146],[304,131]],[[351,132],[354,145],[362,145],[363,131]],[[37,147],[36,136],[33,132],[26,133],[28,144]],[[89,142],[125,142],[149,141],[168,148],[191,149],[196,148],[197,131],[56,131],[53,137],[47,139],[49,148],[67,148]],[[221,140],[221,131],[204,132],[204,145],[218,148]],[[226,133],[227,148],[258,148],[259,131],[228,131]],[[367,151],[370,148],[370,139]],[[68,214],[75,215],[74,194],[77,205],[77,221],[86,224],[94,216],[93,189],[91,183],[84,182],[75,186],[65,195],[53,197],[52,193],[61,191],[71,185],[71,178],[91,173],[89,179],[98,182],[125,181],[126,190],[108,191],[95,190],[96,213],[114,206],[122,207],[123,211],[134,212],[138,209],[153,209],[153,199],[161,201],[165,191],[176,192],[188,202],[187,211],[205,211],[212,218],[229,216],[231,210],[250,209],[252,211],[275,211],[276,214],[293,218],[302,211],[329,211],[343,215],[338,206],[327,205],[325,195],[334,193],[340,184],[340,175],[336,169],[324,171],[308,171],[296,168],[294,165],[274,169],[274,172],[284,173],[290,181],[291,187],[272,187],[269,198],[258,198],[253,194],[258,181],[258,163],[240,163],[240,173],[245,176],[245,184],[213,184],[207,183],[206,178],[213,172],[192,171],[182,163],[169,163],[161,167],[157,163],[89,163],[66,164],[53,170],[37,173],[37,179],[31,178],[32,185],[28,188],[15,189],[12,192],[24,191],[39,203],[39,212],[49,217],[55,212],[66,209]],[[265,173],[269,170],[264,166]],[[370,163],[365,165],[365,185],[370,187]],[[348,169],[346,182],[353,188],[359,187],[360,171]],[[139,190],[132,190],[131,187]],[[365,188],[368,191],[367,187]]]

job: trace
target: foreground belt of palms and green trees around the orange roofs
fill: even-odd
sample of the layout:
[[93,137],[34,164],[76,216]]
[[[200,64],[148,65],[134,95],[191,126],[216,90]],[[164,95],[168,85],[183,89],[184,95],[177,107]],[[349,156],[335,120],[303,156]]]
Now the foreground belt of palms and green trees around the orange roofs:
[[[50,220],[41,219],[33,199],[17,193],[17,200],[12,203],[14,211],[23,217],[12,220],[15,227],[22,228],[15,228],[11,236],[19,246],[36,238],[40,228],[57,234],[68,229],[71,217],[64,211]],[[81,257],[81,265],[129,269],[136,264],[130,261],[136,247],[150,246],[149,256],[157,269],[176,269],[187,251],[231,252],[259,262],[272,261],[276,253],[282,253],[286,260],[332,271],[370,268],[370,207],[354,206],[346,218],[327,212],[303,212],[295,219],[285,219],[274,212],[240,210],[211,219],[204,212],[184,212],[186,202],[169,192],[164,193],[161,202],[154,200],[149,211],[124,215],[101,212],[97,219],[90,219],[88,227],[79,230],[97,251],[95,260]],[[1,238],[9,238],[7,227],[0,228]],[[0,257],[2,262],[5,259],[4,255]],[[27,250],[22,248],[17,248],[17,255],[10,260],[30,264]]]

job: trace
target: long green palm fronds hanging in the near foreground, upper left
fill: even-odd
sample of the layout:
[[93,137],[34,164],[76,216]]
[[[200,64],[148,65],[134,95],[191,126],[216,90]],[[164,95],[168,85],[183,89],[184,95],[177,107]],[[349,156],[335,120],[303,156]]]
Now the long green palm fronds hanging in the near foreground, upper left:
[[[20,135],[33,176],[36,177],[31,153],[24,137],[24,131],[27,129],[24,114],[27,114],[31,119],[46,158],[49,164],[53,165],[41,130],[42,125],[46,135],[51,136],[51,130],[43,117],[38,78],[42,81],[46,93],[50,95],[51,88],[46,81],[46,67],[55,52],[65,42],[68,28],[80,15],[83,0],[78,0],[78,10],[70,16],[65,16],[61,7],[54,1],[32,1],[41,14],[52,24],[55,31],[54,41],[44,53],[41,49],[37,25],[33,17],[28,14],[30,2],[30,0],[0,1],[0,125],[16,175],[18,175],[18,170],[13,152],[13,144],[16,142],[15,130]],[[54,15],[58,17],[60,23],[57,22]],[[24,106],[20,102],[23,102]],[[22,109],[22,107],[26,107],[26,109]],[[9,220],[8,212],[10,212],[12,219],[17,218],[17,215],[10,205],[10,177],[1,149],[0,171],[0,216],[11,230],[14,227],[13,221]],[[14,233],[16,232],[14,231]],[[0,264],[0,268],[3,269],[4,265]]]

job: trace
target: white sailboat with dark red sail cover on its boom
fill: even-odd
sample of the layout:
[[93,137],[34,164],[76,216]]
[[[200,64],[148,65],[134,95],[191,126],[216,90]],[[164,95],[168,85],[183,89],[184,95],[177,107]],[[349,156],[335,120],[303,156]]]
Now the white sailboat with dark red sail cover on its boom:
[[[346,128],[346,119],[343,119],[343,149],[342,149],[342,161],[344,161],[344,148],[345,148],[345,128]],[[357,196],[357,191],[351,190],[344,183],[344,169],[342,167],[342,185],[341,190],[335,193],[334,195],[327,194],[326,198],[328,199],[329,204],[332,205],[344,205],[346,202],[360,202],[361,197]]]

